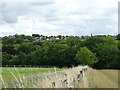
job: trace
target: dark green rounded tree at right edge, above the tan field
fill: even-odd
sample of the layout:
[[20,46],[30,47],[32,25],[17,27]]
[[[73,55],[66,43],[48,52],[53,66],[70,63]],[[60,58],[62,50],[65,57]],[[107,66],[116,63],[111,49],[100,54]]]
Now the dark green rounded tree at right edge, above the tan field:
[[94,65],[94,68],[108,69],[119,68],[119,54],[120,51],[115,45],[101,45],[97,52],[98,62]]

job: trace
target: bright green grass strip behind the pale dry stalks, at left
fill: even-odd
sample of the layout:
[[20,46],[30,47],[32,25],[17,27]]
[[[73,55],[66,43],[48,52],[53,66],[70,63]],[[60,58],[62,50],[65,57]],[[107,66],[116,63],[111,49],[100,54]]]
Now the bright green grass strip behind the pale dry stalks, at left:
[[[61,71],[62,69],[56,68],[56,71]],[[18,78],[19,76],[29,76],[41,73],[55,72],[54,68],[14,68],[14,67],[3,67],[2,68],[2,78],[5,82],[10,82],[11,80]],[[13,75],[14,74],[14,75]]]

